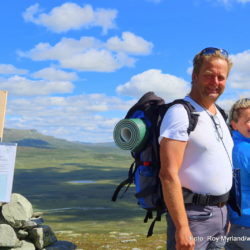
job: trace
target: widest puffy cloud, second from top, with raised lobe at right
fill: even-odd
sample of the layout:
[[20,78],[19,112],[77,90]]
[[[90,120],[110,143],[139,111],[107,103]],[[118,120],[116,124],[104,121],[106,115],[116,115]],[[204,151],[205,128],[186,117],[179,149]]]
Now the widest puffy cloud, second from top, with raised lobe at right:
[[54,46],[39,43],[30,51],[19,51],[18,54],[35,61],[56,60],[63,68],[112,72],[124,66],[134,65],[135,59],[127,53],[149,54],[153,46],[152,43],[130,32],[124,32],[122,37],[123,40],[117,37],[110,38],[107,43],[93,37],[81,37],[79,40],[62,38]]

